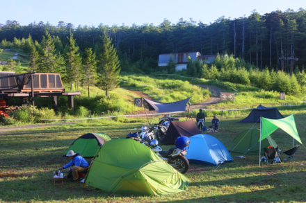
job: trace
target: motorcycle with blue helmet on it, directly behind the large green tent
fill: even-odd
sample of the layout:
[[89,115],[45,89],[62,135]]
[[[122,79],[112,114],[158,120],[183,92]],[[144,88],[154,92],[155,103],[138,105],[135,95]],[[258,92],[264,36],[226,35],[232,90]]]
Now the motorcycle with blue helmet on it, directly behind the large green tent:
[[143,144],[149,146],[156,155],[159,155],[161,159],[167,161],[170,166],[184,174],[189,169],[189,161],[185,157],[187,155],[186,147],[190,143],[190,139],[186,136],[180,136],[175,145],[176,148],[170,148],[168,151],[163,151],[158,145],[158,141],[153,139],[152,141],[145,141]]

